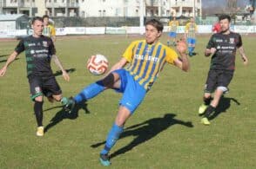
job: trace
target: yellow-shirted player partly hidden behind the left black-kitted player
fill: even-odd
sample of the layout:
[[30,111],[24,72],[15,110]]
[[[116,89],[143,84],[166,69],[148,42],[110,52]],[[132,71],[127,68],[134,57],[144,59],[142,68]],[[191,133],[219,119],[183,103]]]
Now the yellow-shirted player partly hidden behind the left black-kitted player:
[[43,35],[51,37],[51,40],[53,42],[56,42],[56,30],[52,24],[49,22],[49,16],[44,15],[44,29],[43,29]]

